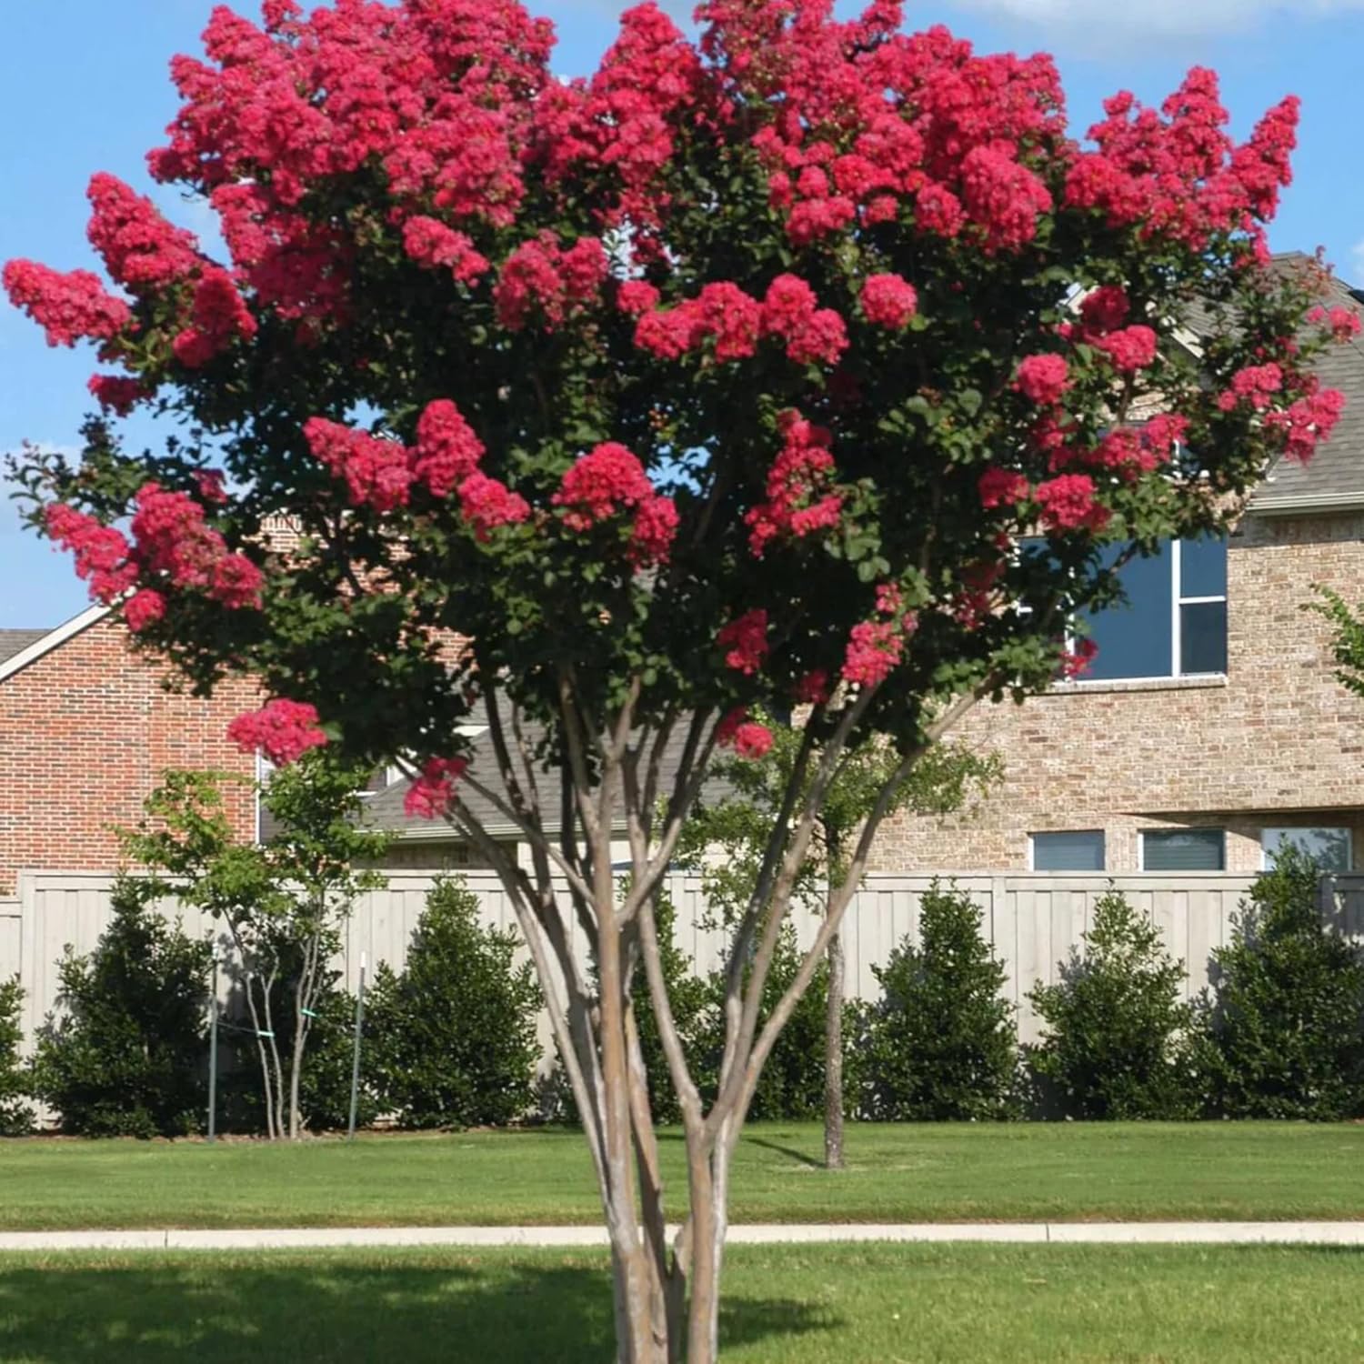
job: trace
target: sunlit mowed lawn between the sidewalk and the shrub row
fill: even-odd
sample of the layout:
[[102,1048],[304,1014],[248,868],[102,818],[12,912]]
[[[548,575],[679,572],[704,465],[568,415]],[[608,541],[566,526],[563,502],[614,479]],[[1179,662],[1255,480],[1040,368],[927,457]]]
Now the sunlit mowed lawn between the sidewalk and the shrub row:
[[[681,1138],[662,1140],[670,1211]],[[735,1222],[1364,1218],[1364,1125],[756,1125]],[[0,1142],[0,1229],[588,1224],[577,1132],[371,1136],[353,1144]]]

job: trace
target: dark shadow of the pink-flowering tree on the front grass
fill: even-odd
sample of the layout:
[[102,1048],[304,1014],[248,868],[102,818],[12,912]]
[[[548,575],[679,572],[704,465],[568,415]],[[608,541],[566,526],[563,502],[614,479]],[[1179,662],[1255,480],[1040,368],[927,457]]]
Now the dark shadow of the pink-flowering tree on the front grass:
[[[722,1337],[737,1346],[836,1324],[803,1303],[743,1299],[727,1304]],[[7,1364],[602,1364],[611,1330],[610,1278],[587,1254],[0,1264]]]

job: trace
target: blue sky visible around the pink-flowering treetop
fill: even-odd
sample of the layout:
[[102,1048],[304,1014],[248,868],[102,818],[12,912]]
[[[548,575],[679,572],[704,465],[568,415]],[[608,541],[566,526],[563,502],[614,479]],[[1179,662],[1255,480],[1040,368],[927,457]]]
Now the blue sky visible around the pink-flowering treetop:
[[[559,30],[557,70],[585,74],[610,44],[614,0],[531,0]],[[685,15],[692,3],[667,4]],[[844,8],[850,8],[844,5]],[[19,4],[0,46],[0,261],[59,269],[94,265],[85,187],[112,170],[150,191],[143,154],[176,108],[166,63],[198,52],[210,0],[61,0]],[[1359,55],[1364,0],[943,0],[910,7],[914,26],[947,23],[983,50],[1046,49],[1061,64],[1072,125],[1087,127],[1117,89],[1158,101],[1194,64],[1222,75],[1237,134],[1284,94],[1303,97],[1296,183],[1273,243],[1326,247],[1364,284],[1364,160],[1359,151]],[[157,192],[162,209],[203,232],[202,210]],[[52,351],[0,300],[0,451],[25,441],[70,446],[89,400],[89,352]],[[130,431],[150,442],[157,432]],[[56,625],[86,604],[83,584],[45,543],[20,532],[0,496],[0,629]]]

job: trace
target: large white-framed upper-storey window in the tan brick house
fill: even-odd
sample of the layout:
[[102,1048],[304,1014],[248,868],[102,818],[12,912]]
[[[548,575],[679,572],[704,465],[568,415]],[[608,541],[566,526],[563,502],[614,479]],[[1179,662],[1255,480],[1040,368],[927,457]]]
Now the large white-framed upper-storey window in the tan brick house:
[[[1114,562],[1118,550],[1110,551]],[[1125,603],[1086,612],[1098,655],[1086,681],[1226,671],[1226,539],[1168,540],[1118,574]]]

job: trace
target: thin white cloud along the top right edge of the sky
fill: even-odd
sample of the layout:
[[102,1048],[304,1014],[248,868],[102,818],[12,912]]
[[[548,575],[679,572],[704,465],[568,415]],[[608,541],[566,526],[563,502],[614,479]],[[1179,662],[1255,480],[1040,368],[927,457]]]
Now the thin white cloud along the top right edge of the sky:
[[1304,19],[1364,11],[1364,0],[956,0],[975,10],[1045,31],[1080,49],[1112,49],[1116,42],[1206,37],[1254,29],[1274,15]]

